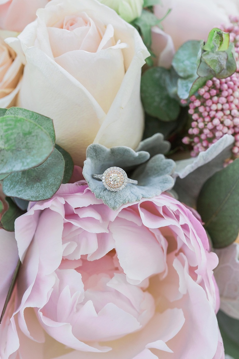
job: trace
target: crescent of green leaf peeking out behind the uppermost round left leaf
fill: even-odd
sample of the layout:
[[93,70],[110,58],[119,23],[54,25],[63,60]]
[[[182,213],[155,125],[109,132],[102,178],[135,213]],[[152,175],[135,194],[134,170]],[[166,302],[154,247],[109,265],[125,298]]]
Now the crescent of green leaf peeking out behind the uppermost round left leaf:
[[41,126],[51,137],[53,144],[56,142],[56,135],[51,118],[40,115],[40,113],[29,111],[21,107],[10,107],[5,116],[19,116],[27,118]]

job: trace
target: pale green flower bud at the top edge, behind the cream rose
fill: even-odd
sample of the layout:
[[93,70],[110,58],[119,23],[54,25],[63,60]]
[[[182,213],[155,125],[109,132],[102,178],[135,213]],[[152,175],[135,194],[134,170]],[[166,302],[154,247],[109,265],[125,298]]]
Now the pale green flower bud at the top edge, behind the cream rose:
[[143,0],[99,0],[100,3],[109,6],[116,11],[122,19],[132,22],[138,18],[143,9]]

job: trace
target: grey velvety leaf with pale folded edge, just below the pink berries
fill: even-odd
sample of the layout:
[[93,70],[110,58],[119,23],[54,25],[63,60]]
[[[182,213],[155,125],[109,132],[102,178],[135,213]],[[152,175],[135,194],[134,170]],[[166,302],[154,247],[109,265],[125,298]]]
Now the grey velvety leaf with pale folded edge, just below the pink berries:
[[181,202],[196,208],[202,186],[214,173],[223,169],[225,160],[231,156],[233,143],[234,137],[226,134],[196,158],[176,161],[173,189]]

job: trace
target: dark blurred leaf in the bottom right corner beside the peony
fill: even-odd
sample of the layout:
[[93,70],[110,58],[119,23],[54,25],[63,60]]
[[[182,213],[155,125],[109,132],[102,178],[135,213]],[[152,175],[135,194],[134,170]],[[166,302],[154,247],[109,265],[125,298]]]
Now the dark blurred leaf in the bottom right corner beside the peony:
[[218,312],[218,324],[223,338],[225,353],[239,359],[239,321]]

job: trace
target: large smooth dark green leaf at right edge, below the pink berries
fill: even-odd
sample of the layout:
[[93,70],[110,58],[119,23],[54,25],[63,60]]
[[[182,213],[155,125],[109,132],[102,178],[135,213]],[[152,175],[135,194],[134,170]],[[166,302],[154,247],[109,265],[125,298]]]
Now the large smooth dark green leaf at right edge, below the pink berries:
[[214,248],[233,243],[239,232],[239,159],[206,181],[197,210],[205,222]]

